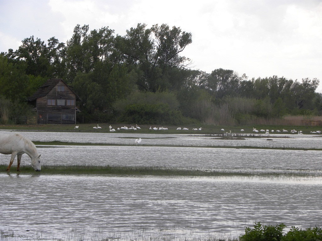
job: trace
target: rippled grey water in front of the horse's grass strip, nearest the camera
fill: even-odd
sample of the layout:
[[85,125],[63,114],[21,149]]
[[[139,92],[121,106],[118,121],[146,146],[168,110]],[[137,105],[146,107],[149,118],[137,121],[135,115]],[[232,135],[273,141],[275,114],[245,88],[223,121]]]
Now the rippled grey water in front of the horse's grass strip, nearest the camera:
[[[90,240],[238,236],[261,221],[321,225],[321,181],[1,174],[1,228],[28,237]],[[25,230],[30,230],[26,232]]]

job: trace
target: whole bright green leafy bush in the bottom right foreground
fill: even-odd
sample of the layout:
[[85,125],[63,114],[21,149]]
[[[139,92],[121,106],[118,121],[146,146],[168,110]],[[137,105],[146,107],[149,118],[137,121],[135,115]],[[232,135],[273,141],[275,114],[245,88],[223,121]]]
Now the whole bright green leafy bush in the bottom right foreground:
[[265,225],[260,222],[255,223],[254,228],[247,227],[245,234],[239,237],[240,241],[313,241],[322,240],[322,228],[308,228],[302,230],[292,226],[290,231],[283,235],[283,223],[276,226]]

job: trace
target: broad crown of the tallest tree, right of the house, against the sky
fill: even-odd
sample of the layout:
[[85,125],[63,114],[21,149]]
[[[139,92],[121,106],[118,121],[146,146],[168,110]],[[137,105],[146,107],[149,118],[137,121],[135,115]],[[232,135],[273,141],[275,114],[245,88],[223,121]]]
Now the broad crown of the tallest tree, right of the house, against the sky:
[[124,61],[137,69],[140,89],[165,91],[173,87],[169,78],[173,68],[186,66],[188,58],[179,54],[192,42],[191,33],[180,28],[162,24],[146,29],[146,24],[137,24],[124,37],[117,36],[116,48]]

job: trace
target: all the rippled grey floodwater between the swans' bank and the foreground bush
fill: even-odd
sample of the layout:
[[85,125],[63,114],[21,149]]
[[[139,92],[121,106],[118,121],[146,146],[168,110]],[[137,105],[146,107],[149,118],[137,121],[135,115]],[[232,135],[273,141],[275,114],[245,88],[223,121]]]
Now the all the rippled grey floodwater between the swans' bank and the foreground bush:
[[[139,137],[114,133],[20,133],[33,141],[116,144],[134,144]],[[246,138],[243,142],[188,135],[140,137],[142,145],[39,146],[38,152],[43,165],[239,169],[259,175],[188,178],[2,173],[0,185],[5,192],[0,199],[0,240],[196,240],[238,237],[258,221],[265,225],[283,222],[287,228],[322,226],[321,151],[240,148],[320,148],[319,137],[303,135],[273,141]],[[144,146],[145,143],[170,146]],[[191,145],[196,147],[188,147]],[[203,147],[220,145],[236,148]],[[9,159],[0,154],[1,164],[8,164]],[[26,154],[22,165],[30,165]],[[288,175],[289,170],[301,175]],[[285,176],[260,176],[268,171]]]

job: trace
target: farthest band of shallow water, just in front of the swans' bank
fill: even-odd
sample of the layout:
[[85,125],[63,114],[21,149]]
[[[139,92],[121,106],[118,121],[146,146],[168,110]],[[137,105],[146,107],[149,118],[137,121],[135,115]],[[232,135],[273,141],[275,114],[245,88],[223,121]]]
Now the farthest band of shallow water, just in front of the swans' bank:
[[[259,134],[267,138],[252,138],[244,135],[246,140],[222,140],[221,136],[208,135],[168,135],[168,134],[135,134],[135,133],[84,133],[84,132],[46,132],[46,131],[1,131],[2,133],[20,133],[32,141],[71,141],[88,143],[135,143],[136,138],[142,138],[142,145],[179,145],[179,146],[252,146],[252,147],[278,147],[278,148],[321,148],[321,136],[297,134]],[[275,138],[274,138],[275,137]],[[288,138],[277,138],[288,137]],[[271,139],[271,140],[267,140]]]

